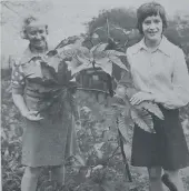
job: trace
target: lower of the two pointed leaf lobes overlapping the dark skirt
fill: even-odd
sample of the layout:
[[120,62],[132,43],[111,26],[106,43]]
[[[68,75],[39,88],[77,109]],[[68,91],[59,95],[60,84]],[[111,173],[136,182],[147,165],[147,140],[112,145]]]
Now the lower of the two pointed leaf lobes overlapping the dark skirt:
[[147,132],[155,133],[152,118],[147,111],[132,109],[130,113],[133,122],[139,128],[143,129]]

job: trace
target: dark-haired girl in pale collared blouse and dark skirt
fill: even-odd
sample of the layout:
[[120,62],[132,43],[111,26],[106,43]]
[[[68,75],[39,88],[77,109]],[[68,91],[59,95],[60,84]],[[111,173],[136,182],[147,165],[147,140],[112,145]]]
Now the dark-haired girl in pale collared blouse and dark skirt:
[[[135,127],[131,164],[148,168],[151,191],[163,190],[162,169],[172,185],[183,191],[179,169],[189,165],[189,152],[178,109],[189,102],[185,54],[163,36],[167,19],[162,6],[145,3],[138,9],[137,18],[143,39],[127,49],[127,57],[135,87],[140,91],[130,101],[158,103],[165,120],[153,120],[156,133]],[[165,183],[168,185],[168,181]]]

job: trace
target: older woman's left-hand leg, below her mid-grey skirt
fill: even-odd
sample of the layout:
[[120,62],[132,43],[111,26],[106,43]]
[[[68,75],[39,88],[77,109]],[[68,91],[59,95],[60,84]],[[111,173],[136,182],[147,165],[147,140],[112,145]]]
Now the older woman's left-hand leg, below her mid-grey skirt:
[[21,180],[21,191],[36,191],[41,168],[27,167]]

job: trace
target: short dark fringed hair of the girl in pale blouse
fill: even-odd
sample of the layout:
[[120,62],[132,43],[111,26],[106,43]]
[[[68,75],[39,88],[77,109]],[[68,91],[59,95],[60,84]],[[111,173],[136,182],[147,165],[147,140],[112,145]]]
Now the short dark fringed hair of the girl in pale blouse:
[[151,17],[151,16],[160,16],[161,20],[162,20],[162,28],[163,30],[167,28],[167,18],[166,18],[166,11],[165,8],[157,3],[157,2],[148,2],[148,3],[143,3],[142,6],[140,6],[137,10],[137,28],[139,30],[139,32],[141,34],[143,34],[142,31],[142,22],[147,17]]

